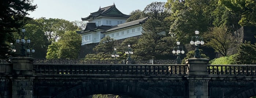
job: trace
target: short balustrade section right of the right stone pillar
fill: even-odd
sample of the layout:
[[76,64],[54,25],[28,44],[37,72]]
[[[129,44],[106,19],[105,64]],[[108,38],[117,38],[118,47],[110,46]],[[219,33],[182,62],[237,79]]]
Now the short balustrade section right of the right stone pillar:
[[211,75],[256,75],[256,65],[208,65],[208,74]]

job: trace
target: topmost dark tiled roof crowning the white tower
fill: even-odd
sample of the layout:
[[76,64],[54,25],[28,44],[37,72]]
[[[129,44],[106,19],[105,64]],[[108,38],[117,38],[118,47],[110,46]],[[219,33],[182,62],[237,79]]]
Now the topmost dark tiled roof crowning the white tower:
[[126,14],[123,14],[122,12],[120,12],[114,4],[114,5],[111,5],[108,7],[100,8],[98,11],[92,12],[88,17],[81,18],[81,19],[88,20],[90,18],[96,18],[99,16],[110,16],[110,17],[121,17],[121,18],[129,18],[130,17],[130,15],[126,15]]

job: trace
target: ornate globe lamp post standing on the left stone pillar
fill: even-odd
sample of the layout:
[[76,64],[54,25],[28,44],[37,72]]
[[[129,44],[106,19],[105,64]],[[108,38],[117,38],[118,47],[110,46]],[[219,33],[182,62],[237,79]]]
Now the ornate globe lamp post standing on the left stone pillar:
[[[22,57],[24,57],[24,56],[29,57],[30,56],[30,45],[29,44],[30,44],[31,41],[30,41],[30,39],[27,39],[27,41],[25,41],[25,36],[27,35],[25,33],[25,31],[26,30],[24,28],[21,30],[22,33],[19,33],[19,35],[21,36],[21,40],[16,39],[16,43],[21,42],[21,56]],[[27,44],[25,44],[26,42],[27,42]],[[32,49],[31,52],[34,53],[35,50]]]

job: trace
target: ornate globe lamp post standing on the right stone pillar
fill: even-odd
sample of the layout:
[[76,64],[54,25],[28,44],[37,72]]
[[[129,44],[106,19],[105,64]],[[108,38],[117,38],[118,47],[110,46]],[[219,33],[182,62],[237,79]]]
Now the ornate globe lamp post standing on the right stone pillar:
[[[203,38],[202,37],[199,37],[198,36],[198,34],[199,34],[199,31],[195,31],[195,34],[196,34],[196,36],[193,36],[192,38],[191,38],[191,41],[190,41],[190,44],[191,45],[195,45],[196,46],[196,50],[195,50],[195,55],[194,55],[194,57],[195,58],[201,58],[201,55],[200,55],[200,53],[199,53],[199,45],[201,44],[201,45],[204,45],[204,41],[203,41]],[[193,38],[194,38],[194,41],[193,41]],[[201,39],[201,41],[199,41]]]

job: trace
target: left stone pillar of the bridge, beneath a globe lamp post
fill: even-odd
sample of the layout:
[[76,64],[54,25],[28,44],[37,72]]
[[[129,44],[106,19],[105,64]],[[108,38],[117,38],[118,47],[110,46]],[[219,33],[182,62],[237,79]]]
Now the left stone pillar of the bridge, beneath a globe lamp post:
[[12,98],[33,98],[33,60],[32,57],[12,58]]

